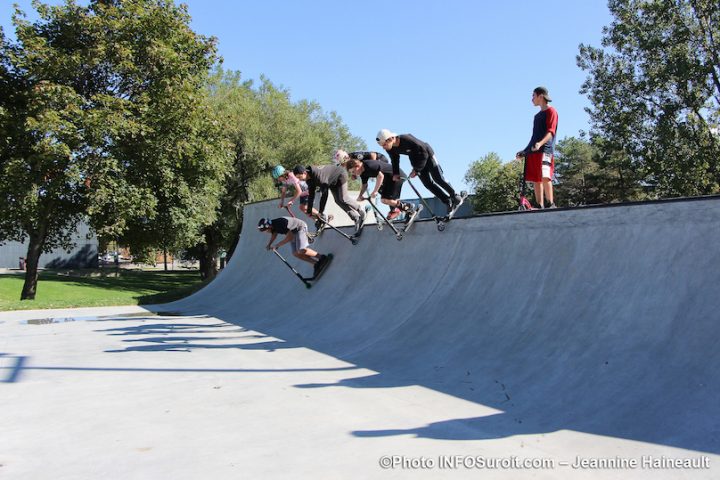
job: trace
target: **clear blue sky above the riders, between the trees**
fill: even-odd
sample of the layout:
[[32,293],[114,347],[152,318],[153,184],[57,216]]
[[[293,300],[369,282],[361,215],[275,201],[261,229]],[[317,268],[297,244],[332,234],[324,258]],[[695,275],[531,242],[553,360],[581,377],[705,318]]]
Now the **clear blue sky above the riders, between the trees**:
[[[32,12],[30,0],[16,3]],[[264,74],[294,100],[336,111],[372,150],[381,128],[412,133],[458,189],[474,160],[490,152],[511,160],[525,147],[536,86],[553,97],[558,139],[588,130],[578,92],[586,73],[575,57],[580,43],[599,47],[611,21],[601,0],[183,3],[193,29],[218,38],[225,69]],[[11,4],[0,5],[8,34]]]

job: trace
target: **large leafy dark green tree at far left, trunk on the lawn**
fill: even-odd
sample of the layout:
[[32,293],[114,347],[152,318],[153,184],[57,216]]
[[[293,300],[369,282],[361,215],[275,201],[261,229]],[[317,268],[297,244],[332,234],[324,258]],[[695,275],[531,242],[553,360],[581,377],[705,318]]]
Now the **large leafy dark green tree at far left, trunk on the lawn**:
[[40,254],[69,247],[85,216],[141,245],[195,238],[214,220],[225,158],[203,98],[214,40],[184,6],[33,7],[40,19],[17,10],[17,43],[0,45],[0,241],[29,240],[22,299],[35,297]]

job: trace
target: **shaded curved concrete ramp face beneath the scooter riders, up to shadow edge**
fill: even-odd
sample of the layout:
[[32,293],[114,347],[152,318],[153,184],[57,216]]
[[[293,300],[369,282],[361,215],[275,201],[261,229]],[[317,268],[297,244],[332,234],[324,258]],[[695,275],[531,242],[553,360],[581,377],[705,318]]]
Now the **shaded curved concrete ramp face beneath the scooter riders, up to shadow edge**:
[[335,260],[310,290],[255,230],[277,212],[249,205],[228,267],[167,307],[377,372],[338,385],[501,412],[354,436],[572,430],[720,453],[720,199],[423,221],[403,241],[372,226],[357,246],[327,231],[314,247]]

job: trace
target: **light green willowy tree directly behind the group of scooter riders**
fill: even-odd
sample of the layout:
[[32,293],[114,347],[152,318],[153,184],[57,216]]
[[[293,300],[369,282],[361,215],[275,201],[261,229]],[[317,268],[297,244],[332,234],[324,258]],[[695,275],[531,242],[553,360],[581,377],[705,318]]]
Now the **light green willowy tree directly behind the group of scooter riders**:
[[223,123],[230,145],[232,166],[217,220],[204,228],[203,241],[191,251],[200,259],[204,278],[217,273],[215,258],[221,248],[232,256],[242,228],[242,206],[277,196],[270,176],[273,166],[328,163],[336,148],[365,147],[335,112],[324,112],[316,102],[293,102],[288,90],[265,77],[256,87],[252,81],[243,82],[239,72],[218,68],[209,90],[214,115]]

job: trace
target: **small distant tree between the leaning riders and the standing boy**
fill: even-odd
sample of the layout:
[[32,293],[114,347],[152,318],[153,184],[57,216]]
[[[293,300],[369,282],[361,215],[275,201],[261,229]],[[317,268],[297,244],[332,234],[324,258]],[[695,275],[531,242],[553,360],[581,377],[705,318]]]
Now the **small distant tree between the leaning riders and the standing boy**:
[[465,173],[465,183],[474,192],[474,211],[489,213],[517,210],[521,176],[521,163],[503,163],[495,152],[474,161]]

